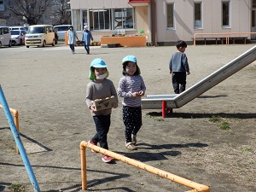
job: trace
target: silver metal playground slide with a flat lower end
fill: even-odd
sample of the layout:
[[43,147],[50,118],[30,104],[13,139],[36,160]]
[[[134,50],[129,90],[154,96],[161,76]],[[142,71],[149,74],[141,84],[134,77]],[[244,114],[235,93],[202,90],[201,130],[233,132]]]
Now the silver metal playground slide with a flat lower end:
[[183,105],[191,102],[195,97],[201,96],[202,93],[210,90],[216,84],[219,84],[224,79],[229,78],[234,73],[246,67],[256,60],[256,46],[248,49],[242,55],[230,61],[224,67],[219,68],[216,72],[202,79],[197,84],[191,86],[188,90],[183,91],[182,94],[175,95],[148,95],[142,98],[143,109],[160,109],[162,102],[166,101],[166,108],[181,108]]

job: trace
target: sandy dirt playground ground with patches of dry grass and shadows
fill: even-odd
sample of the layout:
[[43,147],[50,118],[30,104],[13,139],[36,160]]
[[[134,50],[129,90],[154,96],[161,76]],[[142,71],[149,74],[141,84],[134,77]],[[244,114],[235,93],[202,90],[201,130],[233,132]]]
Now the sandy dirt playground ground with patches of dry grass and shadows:
[[[196,84],[255,44],[189,45]],[[170,47],[83,47],[76,54],[63,44],[0,49],[0,84],[9,108],[20,113],[20,137],[41,191],[81,191],[81,141],[96,132],[84,102],[90,61],[101,57],[118,85],[121,60],[137,56],[146,95],[172,94]],[[144,109],[137,151],[125,149],[121,99],[113,109],[109,150],[166,172],[210,186],[211,192],[256,191],[256,62],[241,69],[182,108],[161,119],[161,110]],[[226,130],[224,128],[227,128]],[[88,191],[189,191],[178,183],[127,165],[106,164],[86,150]],[[26,168],[15,153],[15,139],[0,110],[0,191],[20,184],[32,191]]]

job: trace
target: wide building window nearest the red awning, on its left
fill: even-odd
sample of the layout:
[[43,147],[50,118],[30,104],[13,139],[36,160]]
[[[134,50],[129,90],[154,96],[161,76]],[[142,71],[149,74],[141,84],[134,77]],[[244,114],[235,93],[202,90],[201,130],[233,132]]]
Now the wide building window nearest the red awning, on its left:
[[133,9],[113,9],[113,29],[133,29]]

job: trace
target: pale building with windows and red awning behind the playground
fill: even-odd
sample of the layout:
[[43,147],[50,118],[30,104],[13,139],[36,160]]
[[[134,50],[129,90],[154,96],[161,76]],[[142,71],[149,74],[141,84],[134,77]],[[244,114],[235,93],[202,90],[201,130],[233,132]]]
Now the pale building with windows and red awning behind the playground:
[[255,39],[249,32],[256,32],[256,0],[71,0],[70,5],[74,29],[88,25],[98,41],[139,32],[152,45],[191,43],[195,33],[236,32]]

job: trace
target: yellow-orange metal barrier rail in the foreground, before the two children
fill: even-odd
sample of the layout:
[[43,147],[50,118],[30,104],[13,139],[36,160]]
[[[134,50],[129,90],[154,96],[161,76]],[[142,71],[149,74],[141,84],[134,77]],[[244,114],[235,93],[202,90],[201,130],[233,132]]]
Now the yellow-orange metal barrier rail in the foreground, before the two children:
[[195,183],[193,181],[190,181],[189,179],[176,176],[170,172],[165,172],[163,170],[155,168],[154,166],[148,166],[147,164],[144,164],[140,161],[132,160],[128,157],[125,157],[124,155],[116,154],[116,153],[109,151],[105,148],[100,148],[100,147],[97,147],[96,145],[92,145],[90,143],[86,143],[86,142],[82,141],[80,143],[80,152],[81,152],[81,172],[82,172],[81,174],[82,174],[82,189],[83,190],[87,189],[85,148],[91,148],[99,153],[111,156],[115,160],[121,160],[128,165],[137,166],[138,168],[143,169],[147,172],[154,173],[155,175],[158,175],[160,177],[169,179],[173,182],[180,183],[186,187],[194,189],[194,190],[190,190],[188,192],[194,192],[194,191],[195,192],[210,192],[210,187],[208,187],[206,185],[203,185],[200,183]]

